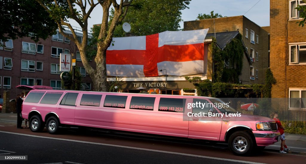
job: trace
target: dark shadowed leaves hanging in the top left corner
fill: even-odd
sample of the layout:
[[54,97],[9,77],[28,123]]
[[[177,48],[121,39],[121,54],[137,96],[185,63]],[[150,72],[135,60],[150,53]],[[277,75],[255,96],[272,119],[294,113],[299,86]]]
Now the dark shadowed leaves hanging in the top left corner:
[[54,34],[57,24],[35,0],[0,0],[0,40],[30,36],[37,42]]

